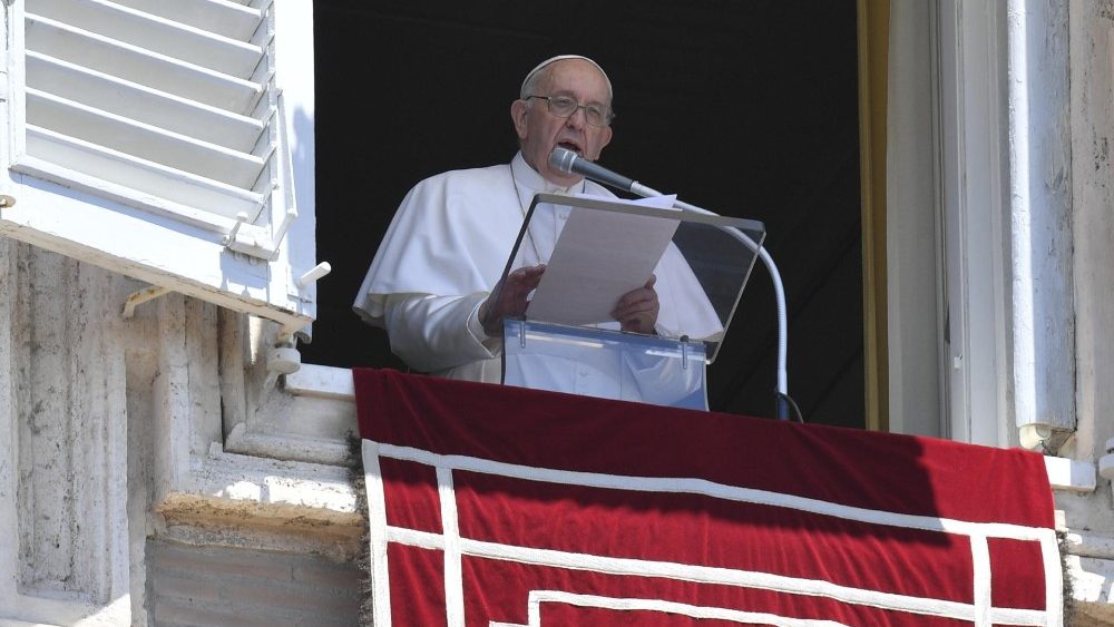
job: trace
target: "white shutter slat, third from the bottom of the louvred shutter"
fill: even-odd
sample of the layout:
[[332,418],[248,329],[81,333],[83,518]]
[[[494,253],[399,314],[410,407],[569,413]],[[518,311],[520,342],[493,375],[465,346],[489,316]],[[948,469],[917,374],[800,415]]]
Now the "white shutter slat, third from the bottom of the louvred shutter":
[[265,127],[254,118],[193,102],[39,52],[27,52],[27,86],[242,153],[252,151]]

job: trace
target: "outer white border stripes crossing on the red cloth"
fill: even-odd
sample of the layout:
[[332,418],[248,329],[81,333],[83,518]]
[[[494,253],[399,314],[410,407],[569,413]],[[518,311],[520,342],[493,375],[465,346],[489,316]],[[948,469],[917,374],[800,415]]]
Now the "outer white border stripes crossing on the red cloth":
[[[716,584],[725,586],[739,586],[746,588],[766,589],[773,591],[801,594],[831,598],[848,604],[864,605],[882,609],[908,611],[919,615],[940,616],[959,620],[970,620],[977,626],[995,625],[1022,625],[1022,626],[1048,626],[1063,627],[1063,608],[1061,606],[1061,568],[1059,552],[1056,543],[1055,531],[1052,529],[1026,527],[1009,523],[986,523],[968,522],[962,520],[935,518],[928,516],[893,513],[881,510],[870,510],[840,503],[821,501],[792,494],[755,490],[750,488],[739,488],[716,483],[704,479],[692,478],[653,478],[653,477],[626,477],[615,474],[602,474],[592,472],[557,470],[526,467],[498,462],[480,458],[465,455],[441,455],[410,447],[398,447],[392,444],[379,444],[378,448],[369,449],[364,443],[365,458],[369,450],[374,450],[378,454],[399,460],[413,461],[417,463],[431,466],[438,469],[438,484],[441,493],[442,520],[446,521],[446,530],[449,530],[449,510],[452,518],[453,533],[451,537],[442,537],[437,533],[417,531],[412,529],[401,529],[387,527],[385,517],[383,526],[377,528],[372,523],[372,548],[375,549],[377,532],[378,538],[387,541],[398,542],[408,546],[421,547],[426,549],[440,549],[446,551],[446,596],[450,595],[450,586],[462,590],[460,577],[460,560],[462,555],[516,561],[521,564],[551,566],[558,568],[569,568],[578,570],[589,570],[612,575],[639,576],[639,577],[663,577],[686,581]],[[378,460],[375,461],[378,470]],[[369,468],[365,459],[365,469]],[[975,564],[975,602],[962,604],[947,601],[942,599],[921,598],[891,592],[881,592],[839,586],[829,581],[812,580],[772,575],[768,572],[744,571],[727,568],[715,568],[694,566],[665,561],[649,561],[627,558],[613,558],[605,556],[576,553],[567,551],[555,551],[549,549],[536,549],[528,547],[516,547],[495,542],[485,542],[459,537],[459,529],[456,528],[456,502],[451,494],[451,476],[447,481],[448,492],[446,494],[446,482],[442,481],[442,472],[449,473],[455,470],[496,474],[528,481],[539,481],[557,484],[585,486],[593,488],[608,488],[629,491],[645,492],[675,492],[694,493],[707,497],[765,504],[773,507],[790,508],[800,511],[812,512],[822,516],[830,516],[844,520],[853,520],[872,525],[886,525],[909,529],[921,529],[967,536],[970,538],[973,560]],[[383,489],[382,480],[368,481],[369,504],[372,502],[371,490]],[[382,500],[382,494],[380,494]],[[987,538],[1009,538],[1016,540],[1037,541],[1042,547],[1042,556],[1045,566],[1045,579],[1047,595],[1047,611],[994,608],[990,604],[990,562],[987,547]],[[453,547],[450,549],[449,545]],[[450,551],[452,557],[450,557]],[[1052,558],[1055,558],[1053,560]],[[450,559],[456,566],[449,564]],[[378,564],[373,560],[373,578],[380,574]],[[449,570],[455,568],[457,581],[449,581]],[[382,566],[382,575],[385,578],[385,561]],[[378,592],[380,587],[375,585]],[[462,592],[461,597],[462,597]],[[564,594],[564,592],[563,592]],[[389,597],[388,597],[389,598]],[[602,597],[603,598],[603,597]],[[455,601],[453,601],[455,602]],[[462,607],[462,598],[460,599]],[[663,601],[664,602],[664,601]],[[451,606],[451,604],[450,604]],[[723,609],[723,608],[721,608]],[[448,611],[453,611],[450,607]],[[736,610],[727,610],[736,611]],[[462,623],[460,623],[462,625]],[[776,623],[775,623],[776,624]],[[379,621],[379,614],[375,615],[377,627],[390,625]],[[452,620],[449,625],[456,625]],[[794,624],[795,625],[795,624]],[[531,623],[531,627],[534,624]]]

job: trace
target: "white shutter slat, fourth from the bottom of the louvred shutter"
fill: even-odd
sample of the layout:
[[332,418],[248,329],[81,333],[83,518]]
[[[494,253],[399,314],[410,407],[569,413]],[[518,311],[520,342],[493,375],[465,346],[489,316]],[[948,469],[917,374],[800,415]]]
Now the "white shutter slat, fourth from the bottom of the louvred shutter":
[[49,18],[28,13],[26,39],[39,51],[109,76],[241,114],[263,86],[150,52]]

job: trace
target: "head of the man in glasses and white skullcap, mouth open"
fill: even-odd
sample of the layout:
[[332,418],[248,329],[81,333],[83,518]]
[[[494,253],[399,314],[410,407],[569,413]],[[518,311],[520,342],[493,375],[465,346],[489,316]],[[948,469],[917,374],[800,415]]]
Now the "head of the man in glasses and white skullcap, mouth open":
[[[607,82],[592,63],[580,59],[557,61],[543,70],[546,72],[535,94],[530,96],[568,96],[580,105],[599,105],[609,110]],[[560,146],[582,157],[596,160],[599,153],[612,140],[609,126],[592,126],[584,117],[584,109],[577,109],[568,118],[549,112],[547,101],[541,98],[515,100],[510,107],[515,130],[522,148],[522,157],[541,176],[557,185],[568,186],[580,180],[579,175],[564,174],[549,165],[549,154]]]

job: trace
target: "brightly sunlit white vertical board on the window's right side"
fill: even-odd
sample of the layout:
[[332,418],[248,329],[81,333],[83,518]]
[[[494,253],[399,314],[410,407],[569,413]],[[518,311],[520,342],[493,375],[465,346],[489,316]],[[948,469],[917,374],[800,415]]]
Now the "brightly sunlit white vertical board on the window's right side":
[[1076,422],[1067,9],[1006,6],[1010,395],[1023,438],[1053,448]]

